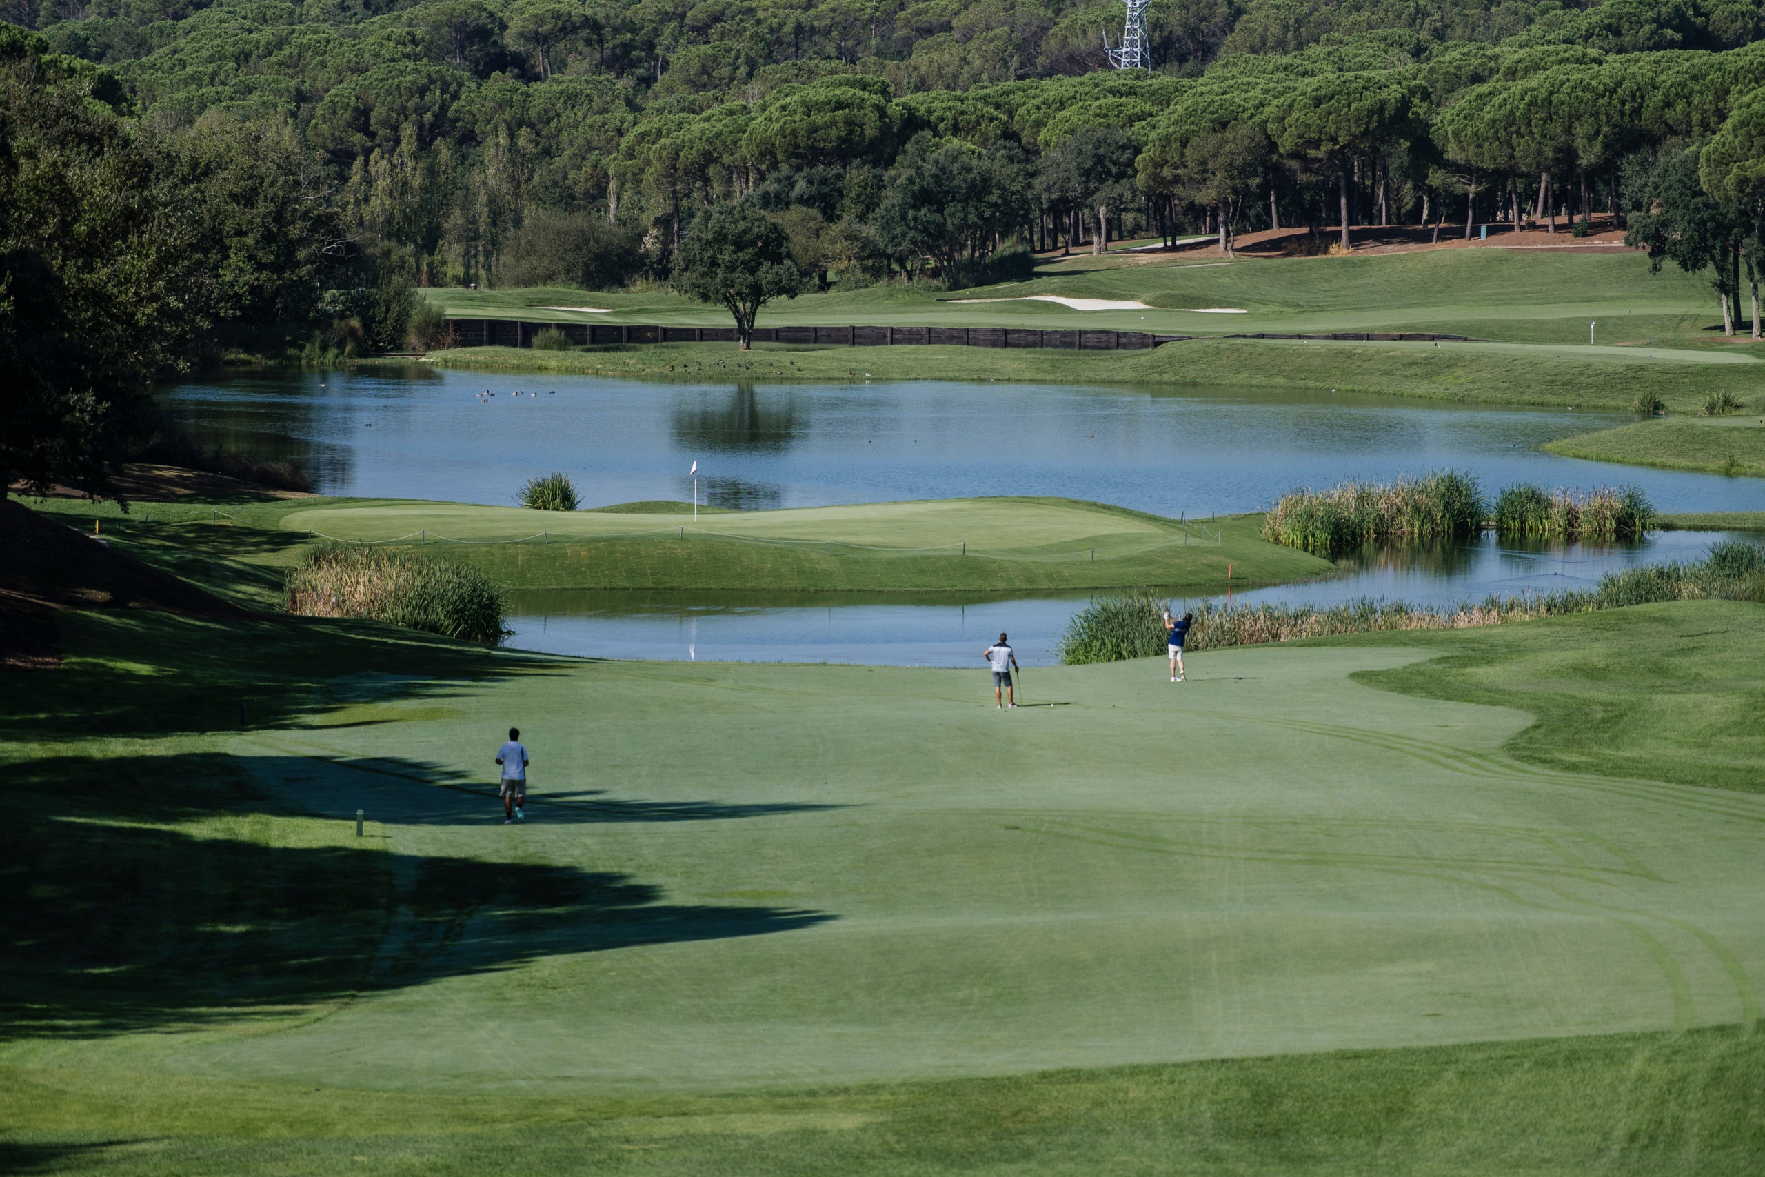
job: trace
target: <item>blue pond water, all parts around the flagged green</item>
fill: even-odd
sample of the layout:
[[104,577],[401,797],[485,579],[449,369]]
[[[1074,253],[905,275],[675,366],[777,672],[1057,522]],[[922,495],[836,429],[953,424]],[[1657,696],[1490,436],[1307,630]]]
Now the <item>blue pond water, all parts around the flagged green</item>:
[[[512,503],[530,476],[561,469],[584,506],[685,499],[699,462],[701,501],[724,506],[1057,494],[1193,519],[1264,508],[1297,485],[1458,468],[1491,492],[1511,482],[1634,484],[1666,512],[1765,510],[1765,480],[1544,454],[1537,446],[1553,438],[1634,420],[1569,408],[990,381],[660,385],[429,367],[229,376],[178,385],[162,402],[203,445],[291,457],[319,491],[351,496]],[[1712,538],[1664,533],[1624,549],[1532,552],[1490,538],[1250,598],[1438,602],[1564,588],[1617,565],[1696,556]],[[1020,656],[1047,662],[1084,600],[522,593],[512,644],[625,658],[971,665],[1008,630]]]

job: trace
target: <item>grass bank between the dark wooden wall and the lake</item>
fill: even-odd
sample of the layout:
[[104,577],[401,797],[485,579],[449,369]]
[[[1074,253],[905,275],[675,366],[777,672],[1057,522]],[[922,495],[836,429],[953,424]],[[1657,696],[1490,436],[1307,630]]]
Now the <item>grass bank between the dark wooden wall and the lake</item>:
[[1147,383],[1306,388],[1488,404],[1571,404],[1629,409],[1654,394],[1691,413],[1710,392],[1747,402],[1765,394],[1765,364],[1737,351],[1550,348],[1479,342],[1333,342],[1193,339],[1151,351],[995,348],[805,348],[660,344],[595,351],[459,348],[443,367],[651,379],[997,379],[1011,383]]

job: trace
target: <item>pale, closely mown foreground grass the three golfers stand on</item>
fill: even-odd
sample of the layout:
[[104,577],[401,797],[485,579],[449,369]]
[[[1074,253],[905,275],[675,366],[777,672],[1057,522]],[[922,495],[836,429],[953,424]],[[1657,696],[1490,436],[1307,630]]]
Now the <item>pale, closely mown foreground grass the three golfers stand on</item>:
[[[1756,614],[1631,625],[1758,644]],[[448,928],[394,912],[378,992],[88,1064],[777,1089],[1758,1016],[1765,798],[1534,768],[1502,753],[1530,716],[1354,678],[1438,646],[1198,655],[1183,685],[1160,660],[1038,669],[1004,713],[980,671],[519,660],[420,701],[334,681],[328,715],[226,745],[288,810],[349,845],[362,808],[395,863],[637,889],[586,918],[544,888]],[[514,829],[487,785],[508,723],[533,755]]]

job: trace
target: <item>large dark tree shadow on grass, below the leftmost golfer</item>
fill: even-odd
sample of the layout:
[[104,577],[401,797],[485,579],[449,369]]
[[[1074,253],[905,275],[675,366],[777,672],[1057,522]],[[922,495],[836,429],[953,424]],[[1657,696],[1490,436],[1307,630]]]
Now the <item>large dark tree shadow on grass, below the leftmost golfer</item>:
[[224,755],[41,759],[9,766],[0,799],[0,1036],[238,1023],[540,956],[831,919],[254,821],[268,806]]

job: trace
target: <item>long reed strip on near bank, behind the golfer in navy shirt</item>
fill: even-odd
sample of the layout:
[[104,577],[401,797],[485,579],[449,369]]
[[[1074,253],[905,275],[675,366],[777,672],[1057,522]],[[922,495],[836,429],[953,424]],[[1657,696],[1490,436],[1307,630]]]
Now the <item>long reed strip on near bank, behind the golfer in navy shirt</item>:
[[1078,611],[1061,635],[1061,662],[1121,662],[1165,653],[1163,612],[1193,612],[1186,649],[1290,642],[1336,633],[1463,630],[1571,612],[1649,605],[1666,600],[1765,602],[1765,549],[1744,542],[1710,547],[1701,561],[1608,572],[1594,589],[1486,596],[1456,605],[1408,605],[1361,598],[1334,605],[1220,605],[1167,602],[1145,591],[1103,596]]

